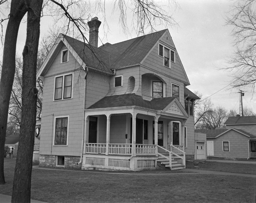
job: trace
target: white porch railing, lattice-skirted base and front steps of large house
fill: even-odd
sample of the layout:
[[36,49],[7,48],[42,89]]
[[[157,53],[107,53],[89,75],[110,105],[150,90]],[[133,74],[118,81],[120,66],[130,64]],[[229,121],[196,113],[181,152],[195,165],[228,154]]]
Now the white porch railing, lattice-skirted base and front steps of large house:
[[84,170],[154,170],[160,165],[177,170],[185,168],[185,152],[181,145],[166,150],[159,145],[86,143],[83,162]]

